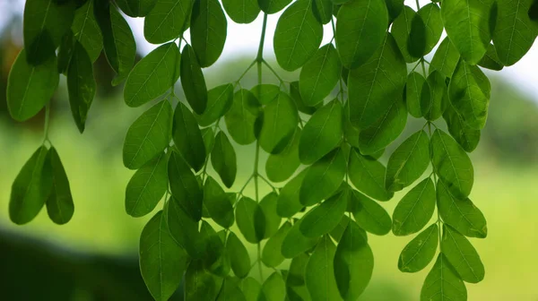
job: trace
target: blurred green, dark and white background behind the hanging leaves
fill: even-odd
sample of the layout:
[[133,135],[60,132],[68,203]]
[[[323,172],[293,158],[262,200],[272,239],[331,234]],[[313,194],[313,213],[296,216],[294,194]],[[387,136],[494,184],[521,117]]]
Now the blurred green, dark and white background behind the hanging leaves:
[[[126,107],[122,87],[110,85],[114,73],[104,56],[94,66],[97,98],[83,135],[78,133],[70,113],[65,77],[51,103],[49,138],[70,179],[74,218],[65,226],[57,226],[43,210],[25,226],[15,226],[9,220],[13,179],[43,140],[44,112],[16,123],[5,103],[7,76],[22,47],[23,5],[23,0],[0,1],[0,300],[151,300],[140,276],[137,252],[139,235],[152,214],[134,219],[125,212],[125,187],[133,172],[123,167],[121,150],[128,126],[152,104]],[[266,57],[273,55],[272,31],[278,16],[269,17]],[[155,46],[143,40],[143,20],[129,22],[140,58]],[[209,88],[239,77],[256,56],[260,30],[261,15],[250,25],[229,20],[229,37],[221,60],[204,70]],[[332,32],[325,33],[326,42]],[[469,300],[538,300],[536,66],[538,47],[534,45],[515,66],[487,72],[492,87],[490,115],[480,145],[471,154],[475,169],[471,199],[489,223],[488,237],[472,242],[482,256],[486,277],[479,284],[466,285]],[[276,82],[270,73],[264,76],[266,81]],[[298,73],[282,72],[282,77],[294,80]],[[242,85],[250,88],[255,82],[256,73],[248,73]],[[177,94],[181,95],[180,85]],[[421,126],[418,120],[410,116],[402,137],[417,126]],[[393,143],[393,147],[398,144]],[[236,150],[236,183],[242,185],[251,173],[254,148],[237,146]],[[387,150],[382,160],[390,152]],[[247,193],[254,192],[247,189]],[[392,214],[404,193],[396,193],[391,202],[382,205]],[[161,204],[157,210],[160,208]],[[415,274],[397,269],[398,255],[410,240],[409,236],[392,234],[370,236],[376,266],[360,300],[419,299],[431,265]],[[181,294],[177,295],[173,298],[179,300]]]

